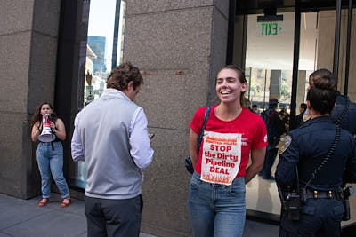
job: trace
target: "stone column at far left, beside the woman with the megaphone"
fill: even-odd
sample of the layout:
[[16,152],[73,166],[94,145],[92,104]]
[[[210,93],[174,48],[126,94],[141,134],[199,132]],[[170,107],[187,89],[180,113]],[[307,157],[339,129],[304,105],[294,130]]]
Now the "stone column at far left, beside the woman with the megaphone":
[[28,120],[53,102],[60,1],[4,0],[0,7],[0,193],[40,194]]

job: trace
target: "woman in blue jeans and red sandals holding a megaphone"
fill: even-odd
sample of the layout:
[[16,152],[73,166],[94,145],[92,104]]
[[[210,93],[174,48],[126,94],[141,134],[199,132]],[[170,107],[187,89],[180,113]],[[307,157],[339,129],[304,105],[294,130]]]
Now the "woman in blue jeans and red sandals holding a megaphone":
[[63,146],[66,138],[64,123],[54,113],[50,103],[42,103],[32,117],[32,141],[37,142],[37,164],[42,178],[42,200],[38,206],[45,206],[51,195],[51,173],[60,190],[61,207],[70,205],[71,199],[66,179],[63,177]]

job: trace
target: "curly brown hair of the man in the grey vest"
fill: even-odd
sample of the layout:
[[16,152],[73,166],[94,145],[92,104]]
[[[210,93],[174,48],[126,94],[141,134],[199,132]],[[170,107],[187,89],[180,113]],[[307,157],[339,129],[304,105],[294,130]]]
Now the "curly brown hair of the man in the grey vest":
[[112,69],[106,85],[108,88],[124,91],[128,87],[128,83],[134,82],[133,88],[136,89],[141,83],[143,78],[138,67],[134,67],[130,62],[123,62],[118,67]]

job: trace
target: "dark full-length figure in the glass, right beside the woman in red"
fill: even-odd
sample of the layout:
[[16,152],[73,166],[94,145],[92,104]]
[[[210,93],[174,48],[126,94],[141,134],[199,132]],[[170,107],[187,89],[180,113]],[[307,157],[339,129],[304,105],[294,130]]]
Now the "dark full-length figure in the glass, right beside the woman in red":
[[263,179],[274,180],[271,176],[271,168],[276,160],[279,144],[279,138],[285,130],[284,122],[279,118],[279,113],[276,111],[278,100],[271,98],[269,101],[269,108],[261,114],[263,121],[266,124],[268,146],[266,149],[266,156],[264,158],[263,169],[259,172],[259,176]]

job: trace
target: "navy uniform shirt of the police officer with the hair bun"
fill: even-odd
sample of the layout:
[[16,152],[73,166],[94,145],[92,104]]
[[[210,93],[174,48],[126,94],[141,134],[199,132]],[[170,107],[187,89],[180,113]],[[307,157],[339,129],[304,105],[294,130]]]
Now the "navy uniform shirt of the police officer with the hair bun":
[[[312,177],[313,170],[323,161],[335,140],[336,125],[328,116],[312,119],[304,126],[290,132],[290,145],[279,155],[276,180],[282,186],[295,184],[298,167],[301,186]],[[355,139],[351,133],[341,129],[340,141],[324,167],[308,186],[311,189],[330,190],[343,183],[343,173],[347,161],[356,164]],[[356,178],[356,170],[351,165],[346,170],[349,177]],[[350,181],[350,180],[349,180]],[[355,180],[353,180],[354,182]]]

